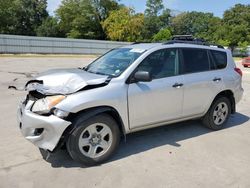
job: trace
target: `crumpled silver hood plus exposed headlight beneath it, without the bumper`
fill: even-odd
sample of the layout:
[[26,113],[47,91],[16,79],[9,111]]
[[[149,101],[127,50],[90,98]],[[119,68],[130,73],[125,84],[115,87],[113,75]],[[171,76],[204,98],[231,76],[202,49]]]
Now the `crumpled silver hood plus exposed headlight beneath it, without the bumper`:
[[65,100],[67,95],[98,87],[109,83],[108,76],[97,75],[82,69],[50,70],[38,75],[25,85],[29,92],[26,100],[33,100],[32,112],[40,115],[53,113],[65,118],[68,113],[54,108]]

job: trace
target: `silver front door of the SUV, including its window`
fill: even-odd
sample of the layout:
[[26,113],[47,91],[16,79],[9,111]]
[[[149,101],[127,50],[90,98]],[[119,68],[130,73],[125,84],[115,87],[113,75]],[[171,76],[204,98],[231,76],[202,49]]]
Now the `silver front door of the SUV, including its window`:
[[130,128],[136,129],[180,118],[183,76],[179,75],[178,49],[153,52],[141,62],[137,71],[150,72],[153,80],[129,85]]

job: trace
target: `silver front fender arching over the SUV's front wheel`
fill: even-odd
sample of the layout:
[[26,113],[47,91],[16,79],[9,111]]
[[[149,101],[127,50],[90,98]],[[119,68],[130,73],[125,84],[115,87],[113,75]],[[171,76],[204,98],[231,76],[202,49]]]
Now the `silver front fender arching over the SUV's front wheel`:
[[112,107],[120,114],[125,130],[129,132],[127,88],[126,83],[120,83],[119,80],[113,79],[105,87],[68,95],[67,100],[63,100],[55,107],[71,113],[98,106]]

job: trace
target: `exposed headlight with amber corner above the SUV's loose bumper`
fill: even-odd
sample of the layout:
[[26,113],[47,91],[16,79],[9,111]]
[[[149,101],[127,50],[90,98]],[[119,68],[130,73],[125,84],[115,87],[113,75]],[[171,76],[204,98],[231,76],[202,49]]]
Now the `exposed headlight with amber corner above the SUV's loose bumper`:
[[37,114],[47,114],[54,106],[56,106],[65,98],[66,97],[64,95],[56,95],[39,99],[34,103],[31,111]]

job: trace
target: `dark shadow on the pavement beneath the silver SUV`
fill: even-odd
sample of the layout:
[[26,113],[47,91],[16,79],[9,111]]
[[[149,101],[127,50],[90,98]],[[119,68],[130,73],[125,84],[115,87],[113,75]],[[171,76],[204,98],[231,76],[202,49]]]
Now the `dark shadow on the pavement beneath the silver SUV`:
[[[242,125],[248,120],[248,116],[236,113],[230,117],[227,126],[224,129]],[[126,142],[121,142],[118,151],[107,163],[167,144],[174,147],[181,147],[181,144],[178,142],[208,133],[212,134],[213,131],[202,126],[201,122],[197,120],[185,121],[132,133],[127,135]],[[54,168],[86,168],[85,166],[73,161],[65,149],[61,149],[52,154],[47,159],[47,162],[49,162]]]

